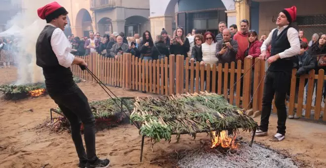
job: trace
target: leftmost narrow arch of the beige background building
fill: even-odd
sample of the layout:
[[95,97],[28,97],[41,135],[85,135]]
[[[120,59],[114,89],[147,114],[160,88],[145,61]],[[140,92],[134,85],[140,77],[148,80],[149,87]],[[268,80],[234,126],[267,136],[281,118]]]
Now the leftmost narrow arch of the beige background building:
[[93,31],[92,18],[86,9],[81,9],[76,16],[76,32],[78,36],[88,37],[89,31]]

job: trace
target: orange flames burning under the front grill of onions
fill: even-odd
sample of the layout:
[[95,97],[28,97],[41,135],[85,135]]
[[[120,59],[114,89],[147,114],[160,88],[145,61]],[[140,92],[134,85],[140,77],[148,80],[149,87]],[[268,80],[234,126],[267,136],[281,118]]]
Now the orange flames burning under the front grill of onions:
[[231,149],[238,149],[239,144],[236,142],[236,137],[233,138],[229,137],[226,131],[221,131],[220,136],[215,136],[215,131],[212,131],[212,146],[211,148],[221,146],[222,148],[231,148]]

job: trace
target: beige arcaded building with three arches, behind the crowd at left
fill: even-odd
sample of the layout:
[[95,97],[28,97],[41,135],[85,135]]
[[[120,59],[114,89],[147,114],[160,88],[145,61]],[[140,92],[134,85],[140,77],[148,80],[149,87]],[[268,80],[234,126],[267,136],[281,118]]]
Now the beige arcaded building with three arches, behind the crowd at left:
[[56,1],[69,12],[66,29],[77,37],[88,36],[89,31],[101,35],[124,32],[126,36],[133,36],[150,30],[149,0]]

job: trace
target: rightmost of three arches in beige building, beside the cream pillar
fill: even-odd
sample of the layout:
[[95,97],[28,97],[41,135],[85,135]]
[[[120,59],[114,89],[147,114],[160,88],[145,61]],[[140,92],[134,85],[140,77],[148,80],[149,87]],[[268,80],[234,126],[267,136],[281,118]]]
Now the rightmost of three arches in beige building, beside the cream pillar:
[[146,30],[150,30],[149,20],[143,16],[130,16],[125,19],[124,33],[125,36],[133,36],[138,33],[143,34]]

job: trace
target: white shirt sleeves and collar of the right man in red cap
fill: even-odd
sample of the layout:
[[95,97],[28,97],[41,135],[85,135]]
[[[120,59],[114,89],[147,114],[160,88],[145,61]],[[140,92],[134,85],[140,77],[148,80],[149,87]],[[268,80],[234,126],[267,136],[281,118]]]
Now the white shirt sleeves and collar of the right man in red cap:
[[[273,29],[272,32],[268,35],[268,38],[261,45],[260,50],[265,51],[267,49],[267,46],[269,46],[271,44],[273,32],[276,29],[279,30],[277,33],[277,35],[279,36],[287,26],[288,25],[283,26],[281,28]],[[288,39],[288,42],[290,43],[291,47],[288,49],[285,49],[285,51],[279,53],[281,59],[288,58],[288,57],[291,57],[291,56],[294,56],[294,55],[297,55],[300,53],[300,40],[299,40],[298,31],[296,31],[294,28],[290,27],[290,28],[288,28],[286,35],[287,35],[287,39]]]

